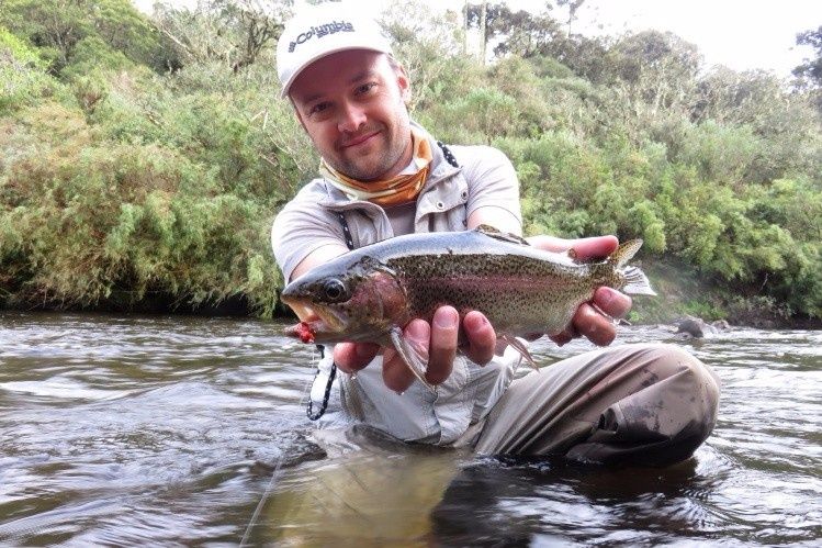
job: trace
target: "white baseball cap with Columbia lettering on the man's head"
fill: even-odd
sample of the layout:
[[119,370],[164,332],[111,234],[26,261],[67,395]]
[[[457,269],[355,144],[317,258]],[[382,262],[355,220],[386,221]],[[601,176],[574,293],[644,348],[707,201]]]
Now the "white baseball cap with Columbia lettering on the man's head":
[[354,3],[324,3],[301,10],[285,23],[277,43],[277,72],[286,97],[300,72],[317,59],[346,49],[392,54],[378,22],[356,12]]

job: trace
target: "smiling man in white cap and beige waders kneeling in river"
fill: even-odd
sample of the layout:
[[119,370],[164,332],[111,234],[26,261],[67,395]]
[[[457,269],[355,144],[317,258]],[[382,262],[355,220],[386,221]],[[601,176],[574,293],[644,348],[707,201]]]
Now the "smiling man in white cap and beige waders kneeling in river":
[[[491,147],[441,145],[410,120],[408,76],[375,22],[334,4],[311,9],[285,25],[277,63],[282,96],[322,156],[320,178],[283,208],[272,228],[286,281],[399,234],[481,224],[521,233],[510,161]],[[613,236],[530,242],[573,248],[581,258],[608,256],[618,244]],[[630,306],[627,295],[599,288],[565,332],[549,335],[558,344],[582,335],[607,346],[616,331],[600,311],[620,317]],[[458,351],[460,327],[469,344]],[[392,348],[344,343],[333,354],[346,413],[399,439],[665,465],[690,456],[716,421],[716,377],[673,346],[593,351],[513,380],[520,358],[497,349],[494,326],[480,312],[461,318],[442,306],[430,325],[414,320],[404,331],[427,348],[426,378],[436,394],[415,382]]]

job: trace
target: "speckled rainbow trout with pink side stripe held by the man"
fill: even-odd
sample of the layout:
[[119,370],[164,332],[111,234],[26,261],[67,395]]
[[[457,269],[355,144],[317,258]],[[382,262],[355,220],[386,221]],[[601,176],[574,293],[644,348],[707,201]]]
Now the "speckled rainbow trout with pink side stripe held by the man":
[[289,283],[281,299],[301,322],[285,334],[305,343],[393,346],[430,389],[427,358],[402,328],[415,317],[430,322],[437,307],[450,304],[460,316],[472,310],[485,314],[497,335],[533,365],[515,337],[561,333],[598,287],[656,294],[639,268],[627,266],[641,246],[634,239],[605,260],[578,261],[488,226],[397,236],[341,255]]

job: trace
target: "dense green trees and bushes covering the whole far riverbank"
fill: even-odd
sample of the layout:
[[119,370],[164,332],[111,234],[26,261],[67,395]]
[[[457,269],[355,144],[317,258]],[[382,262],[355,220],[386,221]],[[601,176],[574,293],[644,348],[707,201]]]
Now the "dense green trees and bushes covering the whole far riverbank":
[[[463,29],[455,13],[393,4],[382,23],[414,118],[508,155],[527,233],[643,238],[664,291],[665,277],[697,280],[680,312],[822,317],[812,69],[788,89],[767,72],[705,70],[673,34],[586,38],[570,32],[577,4],[558,2],[562,22],[488,4],[487,66],[464,49],[475,7]],[[268,230],[317,163],[277,98],[290,9],[210,0],[149,20],[125,0],[3,3],[0,304],[240,299],[273,312]],[[672,307],[660,302],[645,317]]]

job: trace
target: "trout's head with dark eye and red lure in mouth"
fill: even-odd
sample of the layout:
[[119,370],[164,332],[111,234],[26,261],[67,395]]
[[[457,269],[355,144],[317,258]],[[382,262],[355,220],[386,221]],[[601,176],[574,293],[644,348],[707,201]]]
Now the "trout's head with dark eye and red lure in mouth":
[[398,277],[370,257],[322,265],[289,283],[280,299],[301,321],[285,334],[303,340],[376,343],[407,318]]

